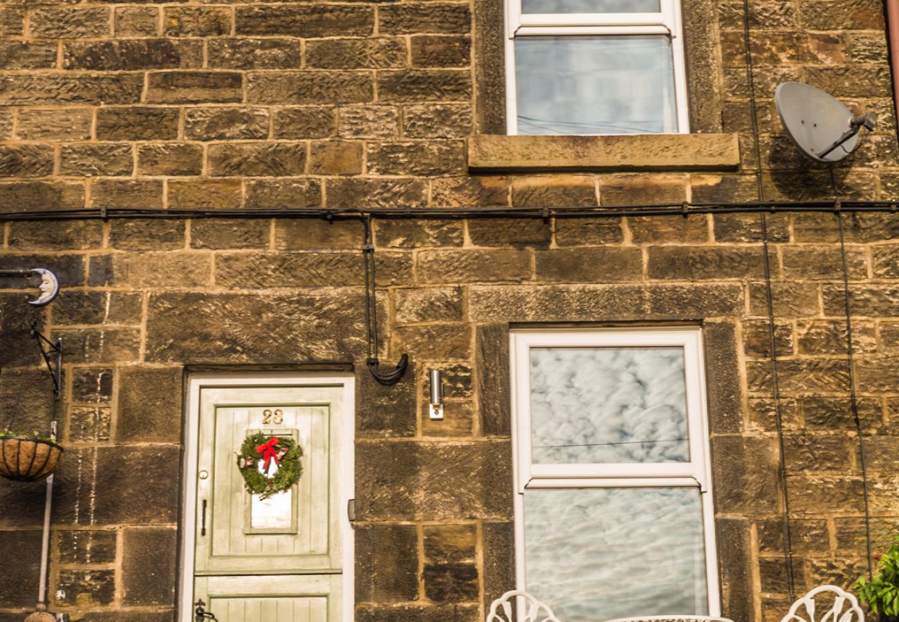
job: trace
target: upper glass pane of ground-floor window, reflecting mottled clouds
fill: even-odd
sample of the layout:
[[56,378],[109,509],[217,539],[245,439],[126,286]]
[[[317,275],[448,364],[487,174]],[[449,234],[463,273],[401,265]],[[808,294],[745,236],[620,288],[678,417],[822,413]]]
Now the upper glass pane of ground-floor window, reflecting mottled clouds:
[[689,462],[682,348],[532,348],[535,463]]

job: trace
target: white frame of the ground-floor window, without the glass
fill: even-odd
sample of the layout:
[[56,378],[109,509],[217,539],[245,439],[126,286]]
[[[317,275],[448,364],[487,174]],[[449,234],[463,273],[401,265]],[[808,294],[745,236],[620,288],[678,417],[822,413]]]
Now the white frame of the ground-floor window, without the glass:
[[[524,492],[535,489],[697,487],[706,549],[708,615],[721,615],[715,510],[708,448],[705,362],[699,327],[513,330],[511,332],[512,457],[514,460],[515,560],[519,590],[527,590]],[[655,464],[537,465],[531,461],[530,349],[682,347],[686,380],[690,462]]]

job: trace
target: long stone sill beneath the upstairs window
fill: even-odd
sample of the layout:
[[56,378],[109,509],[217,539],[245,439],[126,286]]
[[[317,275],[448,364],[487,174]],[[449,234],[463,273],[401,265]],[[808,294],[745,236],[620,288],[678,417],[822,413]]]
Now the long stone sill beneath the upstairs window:
[[468,138],[472,173],[540,171],[733,171],[736,134],[498,136]]

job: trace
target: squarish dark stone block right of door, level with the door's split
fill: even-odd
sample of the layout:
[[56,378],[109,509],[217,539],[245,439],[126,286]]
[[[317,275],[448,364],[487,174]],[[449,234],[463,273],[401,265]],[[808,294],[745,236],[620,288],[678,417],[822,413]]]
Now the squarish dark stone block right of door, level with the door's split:
[[356,529],[356,602],[404,602],[418,597],[418,535],[414,525]]

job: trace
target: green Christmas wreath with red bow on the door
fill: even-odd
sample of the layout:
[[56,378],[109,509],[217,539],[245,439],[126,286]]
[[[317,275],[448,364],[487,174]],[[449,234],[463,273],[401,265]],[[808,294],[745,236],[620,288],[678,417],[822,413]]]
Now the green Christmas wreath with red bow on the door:
[[258,494],[260,499],[268,499],[273,494],[289,490],[303,473],[303,465],[299,461],[302,456],[303,449],[292,439],[280,439],[269,434],[246,437],[237,455],[237,468],[244,476],[246,492]]

